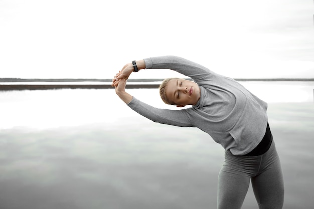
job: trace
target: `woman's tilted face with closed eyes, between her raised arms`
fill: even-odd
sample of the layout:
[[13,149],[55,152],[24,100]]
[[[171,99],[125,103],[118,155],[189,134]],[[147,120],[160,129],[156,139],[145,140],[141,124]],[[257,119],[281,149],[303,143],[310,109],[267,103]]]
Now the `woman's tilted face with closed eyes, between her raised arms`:
[[167,84],[166,95],[177,107],[196,105],[201,97],[201,89],[193,81],[172,79]]

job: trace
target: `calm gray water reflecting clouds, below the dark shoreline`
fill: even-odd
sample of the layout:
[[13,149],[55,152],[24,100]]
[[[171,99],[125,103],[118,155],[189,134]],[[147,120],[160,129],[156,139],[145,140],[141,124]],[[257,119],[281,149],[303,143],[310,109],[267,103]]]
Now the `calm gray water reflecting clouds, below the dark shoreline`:
[[[268,102],[284,208],[314,204],[314,82],[242,82]],[[161,108],[158,89],[131,89]],[[176,109],[176,108],[175,108]],[[0,92],[0,208],[216,208],[223,149],[105,90]],[[243,208],[257,208],[252,189]]]

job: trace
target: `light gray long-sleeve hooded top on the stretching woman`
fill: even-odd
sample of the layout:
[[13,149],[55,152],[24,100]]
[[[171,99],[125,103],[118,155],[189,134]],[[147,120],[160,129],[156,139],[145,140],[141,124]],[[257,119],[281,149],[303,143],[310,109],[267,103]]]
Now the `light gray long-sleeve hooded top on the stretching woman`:
[[142,116],[163,124],[197,127],[225,150],[245,155],[262,140],[267,126],[267,103],[234,79],[175,57],[144,59],[146,69],[171,69],[189,76],[201,89],[196,105],[181,110],[152,107],[135,97],[127,105]]

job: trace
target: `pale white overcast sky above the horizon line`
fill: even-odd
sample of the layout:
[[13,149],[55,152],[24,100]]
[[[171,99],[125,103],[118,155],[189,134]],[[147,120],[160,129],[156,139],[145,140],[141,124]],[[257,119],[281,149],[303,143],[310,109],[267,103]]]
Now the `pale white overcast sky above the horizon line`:
[[314,78],[313,14],[311,0],[0,0],[0,77],[112,78],[176,55],[233,78]]

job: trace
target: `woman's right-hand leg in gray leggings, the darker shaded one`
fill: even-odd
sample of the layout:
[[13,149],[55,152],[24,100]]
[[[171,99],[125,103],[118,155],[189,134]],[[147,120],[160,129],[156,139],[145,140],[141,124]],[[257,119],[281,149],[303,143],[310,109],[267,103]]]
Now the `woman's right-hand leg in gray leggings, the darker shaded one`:
[[268,151],[271,153],[265,153],[268,159],[263,163],[260,174],[251,179],[252,187],[260,209],[281,209],[284,186],[280,160],[274,144],[273,149]]

